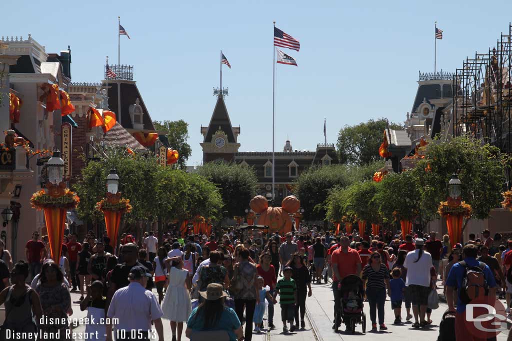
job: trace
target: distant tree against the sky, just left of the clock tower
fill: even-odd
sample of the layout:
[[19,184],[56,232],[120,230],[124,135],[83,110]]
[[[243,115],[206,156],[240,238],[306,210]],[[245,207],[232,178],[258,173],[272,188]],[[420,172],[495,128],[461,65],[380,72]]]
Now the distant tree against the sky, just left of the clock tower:
[[192,149],[187,143],[188,140],[188,123],[183,120],[179,121],[153,121],[156,130],[165,131],[169,144],[180,154],[177,165],[181,169],[185,169],[185,162],[190,157]]

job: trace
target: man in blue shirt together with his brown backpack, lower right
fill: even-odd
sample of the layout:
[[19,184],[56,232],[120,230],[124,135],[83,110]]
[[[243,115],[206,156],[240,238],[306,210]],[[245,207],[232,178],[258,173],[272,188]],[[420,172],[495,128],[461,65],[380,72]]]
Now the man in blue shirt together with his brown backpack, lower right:
[[[496,300],[496,280],[489,266],[476,260],[478,248],[466,244],[462,249],[464,260],[455,263],[446,278],[446,301],[448,310],[456,311],[455,335],[457,341],[485,340],[471,333],[465,318],[466,305],[479,295],[488,296],[489,302]],[[457,288],[459,297],[457,310],[453,304],[453,290]]]

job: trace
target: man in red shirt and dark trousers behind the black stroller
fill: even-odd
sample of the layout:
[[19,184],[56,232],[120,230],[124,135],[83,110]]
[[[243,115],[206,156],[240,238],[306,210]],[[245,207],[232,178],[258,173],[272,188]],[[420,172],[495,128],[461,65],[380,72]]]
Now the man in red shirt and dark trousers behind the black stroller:
[[[349,238],[343,236],[339,239],[341,246],[337,248],[331,255],[332,264],[332,292],[334,295],[334,313],[340,309],[340,301],[342,299],[341,290],[338,289],[338,283],[345,276],[357,275],[361,272],[361,257],[357,251],[349,247]],[[333,329],[339,325],[340,321],[335,321]]]

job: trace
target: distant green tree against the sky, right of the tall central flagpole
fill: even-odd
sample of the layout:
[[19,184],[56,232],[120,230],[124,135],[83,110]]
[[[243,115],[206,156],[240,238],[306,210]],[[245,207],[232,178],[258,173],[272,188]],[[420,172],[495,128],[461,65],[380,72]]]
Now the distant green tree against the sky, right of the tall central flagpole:
[[[354,126],[346,125],[340,129],[337,143],[339,162],[365,165],[380,160],[378,150],[387,124],[387,120],[382,118]],[[402,129],[397,123],[391,123],[389,127],[394,130]]]

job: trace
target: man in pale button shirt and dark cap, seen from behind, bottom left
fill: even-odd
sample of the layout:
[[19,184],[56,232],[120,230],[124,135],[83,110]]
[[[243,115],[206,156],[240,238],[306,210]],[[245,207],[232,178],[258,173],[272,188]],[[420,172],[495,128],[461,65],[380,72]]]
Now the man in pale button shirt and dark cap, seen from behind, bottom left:
[[[151,328],[152,321],[158,339],[164,339],[162,309],[155,294],[146,290],[150,277],[151,274],[143,266],[136,265],[130,270],[130,284],[114,293],[107,316],[118,319],[114,330],[116,341],[130,339],[132,335],[140,340],[155,339],[155,331]],[[106,325],[106,340],[112,341],[112,325]]]

